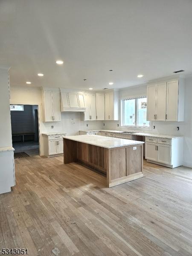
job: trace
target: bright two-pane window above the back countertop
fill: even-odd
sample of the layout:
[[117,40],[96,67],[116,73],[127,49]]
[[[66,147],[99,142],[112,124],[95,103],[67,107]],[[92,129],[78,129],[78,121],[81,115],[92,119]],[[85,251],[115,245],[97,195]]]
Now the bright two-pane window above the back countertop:
[[147,121],[147,98],[124,99],[122,101],[122,125],[150,127]]

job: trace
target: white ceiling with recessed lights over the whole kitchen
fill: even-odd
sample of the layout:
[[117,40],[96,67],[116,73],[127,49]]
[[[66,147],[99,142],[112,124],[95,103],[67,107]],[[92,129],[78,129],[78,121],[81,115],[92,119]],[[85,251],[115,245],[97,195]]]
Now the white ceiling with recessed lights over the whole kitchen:
[[13,86],[94,90],[192,73],[192,1],[0,0],[6,66]]

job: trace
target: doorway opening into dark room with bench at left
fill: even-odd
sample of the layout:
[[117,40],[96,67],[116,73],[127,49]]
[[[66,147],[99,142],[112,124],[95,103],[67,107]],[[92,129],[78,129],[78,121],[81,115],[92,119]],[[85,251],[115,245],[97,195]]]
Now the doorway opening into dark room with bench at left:
[[10,105],[14,157],[39,155],[38,105]]

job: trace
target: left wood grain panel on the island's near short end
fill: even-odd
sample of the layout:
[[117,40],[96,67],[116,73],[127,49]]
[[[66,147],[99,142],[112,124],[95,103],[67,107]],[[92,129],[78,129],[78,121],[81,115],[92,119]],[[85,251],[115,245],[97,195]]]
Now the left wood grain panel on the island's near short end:
[[126,148],[111,150],[111,180],[126,176]]

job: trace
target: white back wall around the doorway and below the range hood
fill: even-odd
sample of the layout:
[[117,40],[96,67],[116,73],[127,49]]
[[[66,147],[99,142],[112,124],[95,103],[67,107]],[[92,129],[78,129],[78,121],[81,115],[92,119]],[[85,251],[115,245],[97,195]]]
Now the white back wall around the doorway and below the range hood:
[[[83,113],[80,112],[63,112],[61,113],[61,122],[42,122],[41,113],[41,89],[32,87],[11,87],[10,104],[29,104],[38,105],[39,114],[39,136],[40,136],[40,154],[43,155],[43,138],[44,132],[62,131],[67,135],[79,134],[79,130],[100,129],[102,121],[82,121]],[[74,125],[71,123],[74,119]],[[88,124],[88,126],[87,126]],[[52,129],[51,126],[54,126]]]

